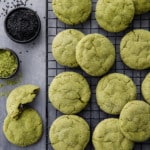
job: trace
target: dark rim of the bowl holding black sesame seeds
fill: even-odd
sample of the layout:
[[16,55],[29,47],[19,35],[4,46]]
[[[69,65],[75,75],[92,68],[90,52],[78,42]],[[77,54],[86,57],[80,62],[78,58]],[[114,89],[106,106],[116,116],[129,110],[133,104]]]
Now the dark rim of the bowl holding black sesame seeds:
[[[31,12],[34,13],[35,17],[36,17],[37,20],[38,20],[38,30],[36,31],[35,35],[34,35],[33,37],[31,37],[30,39],[28,39],[28,40],[23,40],[23,41],[22,41],[22,40],[17,40],[17,39],[15,39],[15,38],[14,38],[13,36],[11,36],[11,34],[9,34],[8,31],[7,31],[7,19],[8,19],[8,17],[9,17],[12,13],[14,13],[15,11],[18,11],[18,10],[20,10],[20,9],[30,10]],[[39,32],[40,32],[40,30],[41,30],[41,20],[40,20],[39,15],[37,14],[37,12],[34,11],[34,10],[32,10],[31,8],[28,8],[28,7],[18,7],[18,8],[14,8],[14,9],[12,9],[10,12],[8,12],[8,14],[7,14],[7,16],[5,17],[5,20],[4,20],[4,29],[5,29],[5,32],[6,32],[7,36],[8,36],[11,40],[13,40],[14,42],[17,42],[17,43],[29,43],[29,42],[33,41],[33,40],[39,35]]]

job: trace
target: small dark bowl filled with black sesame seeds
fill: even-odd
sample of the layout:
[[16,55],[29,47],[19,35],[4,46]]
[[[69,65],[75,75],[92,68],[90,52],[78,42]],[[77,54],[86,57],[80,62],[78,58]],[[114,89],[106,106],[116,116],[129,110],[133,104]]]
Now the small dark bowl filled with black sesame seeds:
[[26,7],[19,7],[8,13],[4,26],[11,40],[17,43],[28,43],[38,36],[41,21],[35,11]]

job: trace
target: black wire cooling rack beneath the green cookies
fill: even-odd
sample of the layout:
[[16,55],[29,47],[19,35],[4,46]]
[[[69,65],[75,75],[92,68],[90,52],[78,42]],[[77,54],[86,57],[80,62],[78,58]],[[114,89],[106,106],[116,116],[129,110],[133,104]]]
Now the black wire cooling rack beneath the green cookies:
[[[137,70],[132,70],[126,67],[121,59],[120,59],[120,54],[119,54],[119,45],[120,45],[120,40],[121,38],[129,31],[132,29],[146,29],[150,30],[150,12],[135,16],[133,22],[131,23],[130,27],[126,29],[123,32],[120,33],[109,33],[101,29],[96,20],[95,20],[95,6],[96,6],[97,0],[92,0],[92,14],[90,18],[84,22],[83,24],[76,25],[76,26],[68,26],[65,25],[64,23],[60,22],[56,16],[54,15],[52,11],[52,0],[47,0],[47,90],[48,87],[53,80],[53,78],[64,71],[75,71],[80,74],[82,74],[87,81],[90,84],[91,91],[92,91],[92,96],[90,103],[88,106],[78,115],[83,117],[90,125],[91,129],[91,135],[93,132],[93,129],[95,126],[103,119],[105,118],[110,118],[110,117],[118,117],[118,116],[112,116],[104,113],[101,111],[96,103],[96,98],[95,98],[95,89],[98,81],[100,80],[101,77],[91,77],[84,73],[80,68],[75,68],[75,69],[70,69],[63,67],[59,65],[53,58],[52,53],[51,53],[51,44],[53,38],[59,33],[60,31],[63,31],[65,29],[78,29],[82,31],[85,34],[89,33],[100,33],[108,37],[112,43],[114,44],[116,48],[116,61],[113,66],[113,68],[108,72],[118,72],[118,73],[123,73],[128,75],[133,79],[137,86],[137,91],[138,91],[138,99],[143,99],[141,95],[141,83],[145,77],[145,75],[150,71],[150,70],[144,70],[144,71],[137,71]],[[46,111],[47,111],[47,150],[53,150],[51,147],[50,141],[49,141],[49,128],[52,124],[52,122],[60,115],[62,115],[59,111],[55,110],[51,103],[48,100],[47,96],[47,106],[46,106]],[[94,150],[92,146],[92,142],[90,140],[86,150]],[[150,140],[143,142],[143,143],[136,143],[134,150],[150,150]]]

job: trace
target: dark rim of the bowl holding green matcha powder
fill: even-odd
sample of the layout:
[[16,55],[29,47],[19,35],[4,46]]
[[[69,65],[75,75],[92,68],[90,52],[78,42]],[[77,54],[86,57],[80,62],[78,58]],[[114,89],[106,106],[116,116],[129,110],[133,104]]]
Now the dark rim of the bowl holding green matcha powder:
[[19,70],[19,67],[20,67],[19,57],[18,57],[18,55],[16,54],[16,52],[15,52],[14,50],[12,50],[12,49],[9,49],[9,48],[0,48],[0,51],[1,51],[1,50],[5,50],[5,51],[11,52],[11,53],[15,56],[15,58],[16,58],[16,60],[17,60],[17,68],[16,68],[16,70],[14,71],[14,73],[11,74],[11,75],[8,76],[8,77],[0,77],[0,79],[10,79],[10,78],[14,77],[14,76],[16,75],[16,73],[18,72],[18,70]]

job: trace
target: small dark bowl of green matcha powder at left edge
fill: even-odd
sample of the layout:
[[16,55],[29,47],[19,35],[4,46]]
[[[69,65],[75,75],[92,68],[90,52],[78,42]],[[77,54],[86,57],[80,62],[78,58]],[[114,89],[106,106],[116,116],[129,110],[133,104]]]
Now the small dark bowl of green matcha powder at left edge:
[[8,79],[13,77],[19,69],[17,54],[10,49],[0,48],[0,78]]

